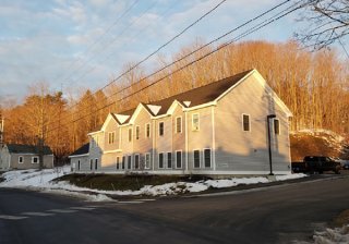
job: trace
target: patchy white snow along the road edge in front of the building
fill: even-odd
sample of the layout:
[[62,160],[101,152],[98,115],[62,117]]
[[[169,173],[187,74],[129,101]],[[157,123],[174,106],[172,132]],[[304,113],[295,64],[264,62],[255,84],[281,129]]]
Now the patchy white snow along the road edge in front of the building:
[[[25,187],[41,190],[43,192],[60,193],[64,195],[81,196],[88,200],[111,200],[107,195],[125,196],[125,195],[176,195],[180,193],[196,193],[203,192],[209,187],[224,188],[237,185],[248,185],[257,183],[268,183],[269,179],[265,176],[253,176],[253,178],[231,178],[226,180],[207,180],[198,181],[195,183],[189,182],[177,182],[167,183],[163,185],[145,185],[139,191],[100,191],[77,187],[69,184],[68,182],[51,182],[51,180],[64,175],[70,172],[70,168],[56,168],[38,170],[15,170],[5,172],[2,174],[4,179],[0,183],[0,187]],[[297,173],[288,175],[277,175],[276,181],[286,181],[292,179],[304,178],[306,174]]]

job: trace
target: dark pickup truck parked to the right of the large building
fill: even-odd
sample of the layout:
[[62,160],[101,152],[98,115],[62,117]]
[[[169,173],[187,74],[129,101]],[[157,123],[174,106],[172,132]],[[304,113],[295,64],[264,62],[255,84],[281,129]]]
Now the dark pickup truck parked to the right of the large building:
[[323,173],[324,171],[339,173],[340,169],[340,162],[324,156],[306,156],[302,162],[292,162],[292,171],[294,173]]

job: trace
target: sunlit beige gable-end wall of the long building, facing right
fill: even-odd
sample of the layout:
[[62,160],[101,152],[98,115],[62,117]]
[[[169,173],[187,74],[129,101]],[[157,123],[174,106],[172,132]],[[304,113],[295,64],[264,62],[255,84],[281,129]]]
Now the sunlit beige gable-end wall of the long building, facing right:
[[[280,120],[280,135],[272,129],[273,168],[276,172],[290,172],[288,118],[254,76],[233,88],[215,108],[216,170],[267,173],[266,117],[274,113]],[[250,115],[248,132],[242,130],[242,114]]]

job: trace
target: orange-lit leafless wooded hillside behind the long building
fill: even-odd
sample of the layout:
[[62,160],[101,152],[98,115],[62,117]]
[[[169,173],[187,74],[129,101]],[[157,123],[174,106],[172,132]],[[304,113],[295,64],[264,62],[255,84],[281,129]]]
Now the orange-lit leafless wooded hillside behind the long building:
[[[44,135],[56,155],[64,156],[85,143],[87,133],[98,130],[108,112],[121,112],[141,101],[169,97],[253,68],[292,111],[293,131],[349,133],[349,61],[340,60],[335,50],[311,53],[292,41],[248,41],[225,47],[182,69],[217,48],[205,47],[189,56],[202,46],[197,40],[170,59],[158,57],[156,70],[178,62],[153,76],[136,68],[104,90],[93,93],[86,88],[79,97],[36,84],[23,105],[2,108],[4,141],[35,144]],[[130,68],[132,64],[124,64],[125,71]],[[100,87],[105,83],[100,81]]]

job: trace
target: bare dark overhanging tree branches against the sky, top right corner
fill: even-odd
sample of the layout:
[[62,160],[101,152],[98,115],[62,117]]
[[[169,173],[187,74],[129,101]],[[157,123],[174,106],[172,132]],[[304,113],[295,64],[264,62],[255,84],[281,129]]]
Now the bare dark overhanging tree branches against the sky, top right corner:
[[320,50],[349,34],[348,0],[306,0],[301,21],[309,26],[296,34],[305,47]]

